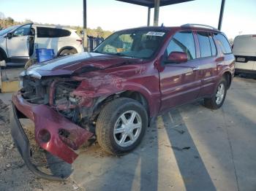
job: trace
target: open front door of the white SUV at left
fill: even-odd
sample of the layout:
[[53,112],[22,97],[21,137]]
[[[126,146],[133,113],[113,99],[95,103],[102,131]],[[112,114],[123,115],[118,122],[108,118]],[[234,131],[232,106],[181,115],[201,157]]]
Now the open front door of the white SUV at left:
[[31,24],[26,24],[12,32],[12,37],[7,38],[8,57],[29,58],[29,34]]

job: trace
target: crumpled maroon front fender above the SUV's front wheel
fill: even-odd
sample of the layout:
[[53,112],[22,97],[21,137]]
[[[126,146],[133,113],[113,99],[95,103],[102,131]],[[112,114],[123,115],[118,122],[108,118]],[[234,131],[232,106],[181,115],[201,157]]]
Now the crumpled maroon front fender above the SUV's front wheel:
[[[81,74],[73,79],[83,81],[73,92],[89,98],[108,97],[123,91],[142,94],[148,101],[149,113],[155,117],[159,112],[159,75],[153,63],[119,66],[89,74]],[[150,82],[150,83],[148,83]]]

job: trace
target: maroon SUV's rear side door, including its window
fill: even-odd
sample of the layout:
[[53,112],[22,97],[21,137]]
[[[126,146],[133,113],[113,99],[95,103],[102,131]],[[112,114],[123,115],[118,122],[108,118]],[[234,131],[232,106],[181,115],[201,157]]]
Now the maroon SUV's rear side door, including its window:
[[211,33],[197,31],[197,42],[200,48],[200,72],[202,80],[200,97],[212,95],[218,79],[217,64],[222,64],[224,57],[217,55],[217,47]]

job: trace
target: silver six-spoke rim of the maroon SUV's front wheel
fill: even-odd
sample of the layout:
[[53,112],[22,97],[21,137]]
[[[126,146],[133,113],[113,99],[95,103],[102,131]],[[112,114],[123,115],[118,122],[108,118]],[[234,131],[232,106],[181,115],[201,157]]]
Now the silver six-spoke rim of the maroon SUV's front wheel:
[[113,130],[116,144],[121,147],[129,147],[138,140],[142,128],[140,114],[133,110],[124,112],[116,120]]

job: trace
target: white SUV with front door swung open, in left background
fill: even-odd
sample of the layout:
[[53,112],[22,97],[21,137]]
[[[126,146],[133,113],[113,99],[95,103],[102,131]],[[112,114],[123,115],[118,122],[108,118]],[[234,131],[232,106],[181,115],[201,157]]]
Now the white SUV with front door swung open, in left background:
[[12,26],[0,31],[0,61],[25,63],[37,48],[53,49],[55,56],[83,52],[82,39],[75,30],[63,26]]

